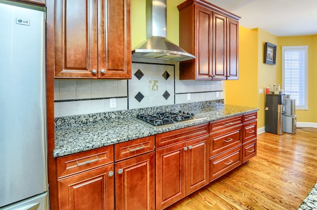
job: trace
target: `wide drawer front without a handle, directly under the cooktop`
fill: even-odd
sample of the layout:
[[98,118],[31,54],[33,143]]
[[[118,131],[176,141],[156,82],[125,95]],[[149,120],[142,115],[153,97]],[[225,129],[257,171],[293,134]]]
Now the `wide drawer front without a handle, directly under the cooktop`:
[[209,123],[184,127],[156,135],[156,149],[209,134]]

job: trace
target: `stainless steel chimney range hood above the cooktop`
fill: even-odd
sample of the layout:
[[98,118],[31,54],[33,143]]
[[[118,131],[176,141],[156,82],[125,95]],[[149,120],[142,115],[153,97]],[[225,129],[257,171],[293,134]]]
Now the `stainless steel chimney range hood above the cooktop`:
[[147,40],[132,51],[132,57],[171,61],[195,59],[166,37],[166,0],[146,0]]

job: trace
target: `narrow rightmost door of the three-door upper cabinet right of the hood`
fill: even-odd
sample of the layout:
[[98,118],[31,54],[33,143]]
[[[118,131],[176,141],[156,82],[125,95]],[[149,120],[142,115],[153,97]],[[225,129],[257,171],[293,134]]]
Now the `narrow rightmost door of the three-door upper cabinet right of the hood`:
[[227,80],[239,79],[239,22],[228,18]]

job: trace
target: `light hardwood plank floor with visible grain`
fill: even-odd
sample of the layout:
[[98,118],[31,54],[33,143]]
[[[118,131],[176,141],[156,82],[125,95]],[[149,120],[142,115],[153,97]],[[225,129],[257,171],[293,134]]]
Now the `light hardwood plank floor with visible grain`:
[[317,128],[258,135],[257,157],[166,210],[297,210],[317,182]]

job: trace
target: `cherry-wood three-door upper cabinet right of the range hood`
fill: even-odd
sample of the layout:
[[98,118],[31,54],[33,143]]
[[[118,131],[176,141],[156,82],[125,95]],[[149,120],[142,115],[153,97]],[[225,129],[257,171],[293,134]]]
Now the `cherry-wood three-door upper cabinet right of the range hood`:
[[238,79],[240,17],[204,0],[177,7],[179,46],[196,56],[180,62],[180,80]]

